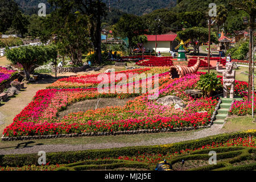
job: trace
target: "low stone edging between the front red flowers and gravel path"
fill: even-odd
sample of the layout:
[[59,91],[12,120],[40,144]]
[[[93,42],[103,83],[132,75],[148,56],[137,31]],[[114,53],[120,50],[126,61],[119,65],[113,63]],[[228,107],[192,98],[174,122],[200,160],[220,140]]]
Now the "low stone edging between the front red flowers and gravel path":
[[133,134],[142,134],[142,133],[160,133],[160,132],[176,132],[176,131],[189,131],[202,129],[207,126],[199,126],[199,127],[181,127],[181,128],[173,128],[173,129],[150,129],[150,130],[131,130],[131,131],[114,131],[114,132],[91,132],[91,133],[80,133],[80,134],[59,134],[59,135],[35,135],[35,136],[24,136],[24,137],[4,137],[2,136],[2,141],[13,141],[13,140],[31,140],[31,139],[49,139],[49,138],[70,138],[70,137],[90,137],[90,136],[107,136],[107,135],[133,135]]

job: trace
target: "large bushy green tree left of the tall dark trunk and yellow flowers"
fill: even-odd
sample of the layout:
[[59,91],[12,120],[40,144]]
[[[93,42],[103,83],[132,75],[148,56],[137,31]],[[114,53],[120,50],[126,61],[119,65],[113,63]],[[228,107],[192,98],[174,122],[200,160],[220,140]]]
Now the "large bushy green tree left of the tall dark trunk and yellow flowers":
[[42,32],[42,37],[44,33],[48,34],[48,38],[55,36],[59,53],[69,56],[73,64],[79,65],[82,63],[82,53],[88,52],[91,43],[89,17],[77,11],[75,1],[50,2],[56,6],[51,17],[46,19],[50,23],[45,23],[51,31]]

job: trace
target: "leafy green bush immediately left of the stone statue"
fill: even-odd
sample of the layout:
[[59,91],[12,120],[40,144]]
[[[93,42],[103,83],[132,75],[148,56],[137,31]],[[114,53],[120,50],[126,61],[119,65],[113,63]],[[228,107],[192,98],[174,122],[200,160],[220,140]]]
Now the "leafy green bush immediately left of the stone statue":
[[221,88],[221,80],[215,73],[207,73],[200,76],[200,80],[197,81],[197,88],[202,90],[204,96],[210,97],[214,91]]

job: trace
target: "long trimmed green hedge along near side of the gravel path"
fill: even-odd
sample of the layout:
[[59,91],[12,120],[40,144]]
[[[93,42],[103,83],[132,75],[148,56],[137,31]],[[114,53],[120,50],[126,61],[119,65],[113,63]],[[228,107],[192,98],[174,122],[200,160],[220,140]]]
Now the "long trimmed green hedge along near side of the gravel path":
[[[123,148],[109,148],[104,150],[85,150],[85,151],[68,151],[68,152],[52,152],[46,154],[46,161],[49,164],[68,164],[78,162],[81,160],[97,159],[97,158],[113,158],[118,156],[133,156],[137,155],[138,151],[141,153],[163,155],[167,152],[174,153],[176,151],[188,149],[195,149],[212,142],[223,143],[232,138],[245,138],[249,135],[254,136],[255,130],[243,131],[230,134],[219,134],[210,137],[205,137],[196,140],[189,140],[179,143],[163,144],[155,146],[136,146]],[[38,165],[38,154],[18,154],[18,155],[0,155],[0,166],[24,166],[24,165]]]

